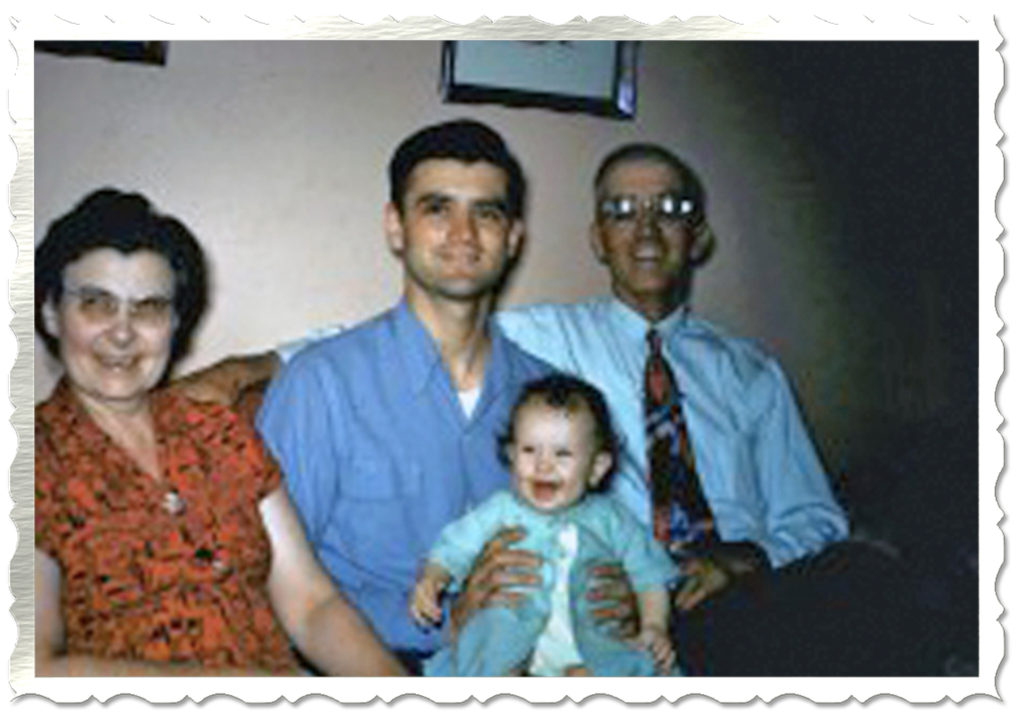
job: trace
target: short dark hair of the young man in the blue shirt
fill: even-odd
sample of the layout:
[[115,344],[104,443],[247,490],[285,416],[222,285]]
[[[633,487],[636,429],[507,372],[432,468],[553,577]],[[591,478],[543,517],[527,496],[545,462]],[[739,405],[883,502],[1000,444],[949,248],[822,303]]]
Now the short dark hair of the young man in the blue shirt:
[[465,163],[486,162],[505,170],[508,176],[508,211],[512,219],[521,219],[525,203],[526,180],[522,167],[509,152],[505,140],[495,130],[475,120],[455,120],[425,127],[402,140],[388,166],[391,203],[403,211],[402,201],[409,175],[425,160],[458,160]]

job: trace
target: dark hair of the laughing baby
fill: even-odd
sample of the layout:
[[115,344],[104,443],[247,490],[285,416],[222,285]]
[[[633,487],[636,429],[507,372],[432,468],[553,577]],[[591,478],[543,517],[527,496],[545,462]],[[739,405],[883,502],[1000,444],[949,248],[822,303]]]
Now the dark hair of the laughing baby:
[[611,413],[604,395],[593,384],[568,374],[549,374],[523,385],[512,406],[512,413],[505,432],[498,438],[498,456],[503,465],[509,465],[508,447],[515,442],[515,420],[527,404],[542,402],[552,409],[568,412],[583,408],[594,419],[594,439],[598,452],[611,457],[611,465],[601,479],[597,491],[607,487],[608,478],[618,465],[618,439],[611,424]]

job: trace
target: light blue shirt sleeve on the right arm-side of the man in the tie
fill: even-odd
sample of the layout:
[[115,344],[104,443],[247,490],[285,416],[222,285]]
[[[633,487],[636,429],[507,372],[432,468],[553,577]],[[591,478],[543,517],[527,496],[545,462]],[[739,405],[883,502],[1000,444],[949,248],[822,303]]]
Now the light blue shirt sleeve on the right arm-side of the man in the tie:
[[778,567],[846,539],[849,523],[778,363],[769,361],[758,380],[770,392],[755,431],[757,478],[767,511],[767,535],[758,543]]

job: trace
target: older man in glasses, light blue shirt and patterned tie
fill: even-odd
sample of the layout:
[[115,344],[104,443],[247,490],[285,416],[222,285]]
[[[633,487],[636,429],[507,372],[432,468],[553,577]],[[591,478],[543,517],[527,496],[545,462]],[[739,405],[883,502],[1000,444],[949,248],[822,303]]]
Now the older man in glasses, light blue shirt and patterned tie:
[[594,193],[591,245],[612,296],[506,311],[501,327],[605,393],[625,439],[612,491],[688,577],[676,605],[691,670],[772,673],[777,661],[746,661],[756,634],[736,638],[757,606],[740,598],[708,626],[710,599],[763,587],[771,569],[803,571],[847,538],[846,516],[778,364],[689,310],[713,242],[694,173],[662,146],[628,144],[601,163]]

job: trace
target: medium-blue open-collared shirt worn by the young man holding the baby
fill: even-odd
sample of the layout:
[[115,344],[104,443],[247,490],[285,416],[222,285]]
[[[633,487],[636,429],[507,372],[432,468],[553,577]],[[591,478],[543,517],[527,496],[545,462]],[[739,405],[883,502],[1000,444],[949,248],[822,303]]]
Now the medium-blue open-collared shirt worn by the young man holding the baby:
[[386,644],[433,651],[409,616],[418,568],[445,524],[509,485],[498,438],[522,385],[553,370],[492,331],[470,417],[404,301],[300,351],[258,418],[324,567]]

